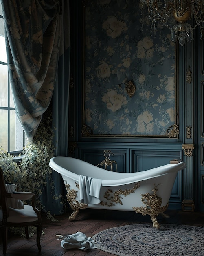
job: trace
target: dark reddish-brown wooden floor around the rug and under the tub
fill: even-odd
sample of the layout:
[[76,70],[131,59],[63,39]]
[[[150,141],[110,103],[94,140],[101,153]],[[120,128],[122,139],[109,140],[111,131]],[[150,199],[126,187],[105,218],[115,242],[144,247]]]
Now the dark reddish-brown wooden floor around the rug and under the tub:
[[[112,256],[113,254],[103,252],[99,249],[89,249],[82,251],[80,249],[63,249],[60,245],[61,240],[56,238],[56,234],[66,236],[81,231],[86,236],[92,237],[100,231],[111,227],[121,225],[151,223],[149,216],[142,216],[135,212],[126,211],[103,211],[97,209],[84,209],[79,211],[75,221],[69,221],[68,216],[71,211],[61,216],[56,216],[57,222],[51,222],[43,217],[44,235],[41,236],[42,251],[38,253],[36,245],[36,237],[25,239],[20,236],[9,234],[7,256]],[[197,212],[182,212],[167,210],[170,218],[164,219],[161,216],[157,218],[160,224],[162,223],[177,223],[181,225],[204,226],[204,213]],[[2,254],[2,240],[0,238],[0,255]]]

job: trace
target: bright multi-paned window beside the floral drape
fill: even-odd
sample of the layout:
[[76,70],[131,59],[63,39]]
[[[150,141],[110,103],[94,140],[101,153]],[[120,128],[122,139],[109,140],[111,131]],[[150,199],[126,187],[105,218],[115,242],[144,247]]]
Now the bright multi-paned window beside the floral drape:
[[25,144],[22,126],[15,115],[13,95],[9,82],[4,20],[0,4],[0,146],[7,152],[18,155]]

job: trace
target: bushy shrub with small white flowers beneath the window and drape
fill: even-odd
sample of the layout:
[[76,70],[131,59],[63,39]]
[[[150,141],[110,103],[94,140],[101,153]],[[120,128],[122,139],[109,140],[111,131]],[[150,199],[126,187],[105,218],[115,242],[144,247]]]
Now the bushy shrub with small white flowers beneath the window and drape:
[[[54,156],[52,119],[49,114],[43,119],[33,143],[28,143],[23,150],[21,162],[15,162],[15,157],[7,153],[0,147],[0,167],[4,173],[6,183],[18,185],[18,191],[29,191],[35,194],[35,206],[43,210],[48,219],[55,221],[55,218],[49,211],[44,209],[40,196],[46,186],[46,177],[50,177],[52,169],[49,166],[50,158]],[[51,180],[52,181],[52,180]],[[53,184],[51,184],[53,187]],[[55,195],[55,199],[61,198],[61,195]],[[24,202],[26,204],[27,202]],[[35,230],[35,229],[34,229]]]

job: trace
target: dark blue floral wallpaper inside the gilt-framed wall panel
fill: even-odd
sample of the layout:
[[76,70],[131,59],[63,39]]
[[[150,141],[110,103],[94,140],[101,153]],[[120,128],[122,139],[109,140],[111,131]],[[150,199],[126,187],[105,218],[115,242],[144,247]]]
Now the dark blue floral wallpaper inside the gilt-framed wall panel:
[[142,31],[140,9],[138,0],[86,2],[83,115],[93,135],[154,137],[175,124],[175,45],[169,29],[151,36],[146,18]]

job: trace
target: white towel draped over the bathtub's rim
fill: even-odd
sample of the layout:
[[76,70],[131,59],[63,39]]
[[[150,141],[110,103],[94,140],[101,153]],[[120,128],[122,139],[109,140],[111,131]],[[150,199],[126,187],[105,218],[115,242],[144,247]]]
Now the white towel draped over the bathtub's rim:
[[94,179],[87,176],[79,176],[80,200],[84,204],[99,204],[100,200],[100,179]]

